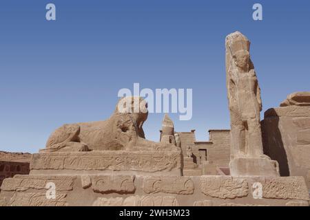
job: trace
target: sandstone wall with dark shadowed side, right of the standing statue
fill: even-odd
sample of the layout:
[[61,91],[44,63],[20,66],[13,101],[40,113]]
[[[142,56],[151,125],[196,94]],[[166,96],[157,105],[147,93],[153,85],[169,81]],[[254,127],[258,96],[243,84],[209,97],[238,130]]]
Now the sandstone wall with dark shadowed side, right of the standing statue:
[[264,151],[279,163],[281,176],[303,176],[310,188],[310,107],[269,109],[262,121]]

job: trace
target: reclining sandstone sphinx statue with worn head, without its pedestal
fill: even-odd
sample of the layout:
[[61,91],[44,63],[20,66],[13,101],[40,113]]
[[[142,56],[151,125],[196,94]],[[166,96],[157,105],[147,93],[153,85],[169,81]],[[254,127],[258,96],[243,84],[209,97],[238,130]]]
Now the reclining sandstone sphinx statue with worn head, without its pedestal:
[[147,115],[147,102],[143,98],[121,98],[109,119],[64,124],[50,135],[45,149],[40,152],[177,149],[175,144],[169,142],[145,140],[143,123],[147,120]]

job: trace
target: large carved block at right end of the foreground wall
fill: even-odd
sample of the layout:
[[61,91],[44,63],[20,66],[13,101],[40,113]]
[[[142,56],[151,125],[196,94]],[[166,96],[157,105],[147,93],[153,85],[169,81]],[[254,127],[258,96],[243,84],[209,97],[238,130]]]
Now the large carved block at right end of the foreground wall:
[[303,177],[266,177],[262,183],[262,197],[309,201],[309,192]]

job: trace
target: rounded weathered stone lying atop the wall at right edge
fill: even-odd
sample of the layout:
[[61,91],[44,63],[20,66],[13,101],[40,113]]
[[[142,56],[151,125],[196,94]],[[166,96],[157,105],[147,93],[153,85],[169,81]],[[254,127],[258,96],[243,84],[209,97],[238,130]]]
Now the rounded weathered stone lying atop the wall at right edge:
[[287,99],[280,104],[280,107],[286,107],[291,105],[310,106],[310,92],[297,91],[293,94],[289,94],[289,96],[287,96]]

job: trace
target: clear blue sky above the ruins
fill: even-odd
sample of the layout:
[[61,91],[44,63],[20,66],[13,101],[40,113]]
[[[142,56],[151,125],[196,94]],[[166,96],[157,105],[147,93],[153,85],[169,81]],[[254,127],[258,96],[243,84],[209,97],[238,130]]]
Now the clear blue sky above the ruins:
[[[56,5],[56,21],[45,5]],[[261,3],[263,20],[252,19]],[[0,2],[0,150],[37,152],[64,123],[104,120],[121,88],[192,88],[176,131],[229,129],[225,36],[251,41],[263,111],[310,90],[310,1],[10,0]],[[149,114],[158,140],[162,113]]]

